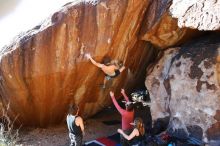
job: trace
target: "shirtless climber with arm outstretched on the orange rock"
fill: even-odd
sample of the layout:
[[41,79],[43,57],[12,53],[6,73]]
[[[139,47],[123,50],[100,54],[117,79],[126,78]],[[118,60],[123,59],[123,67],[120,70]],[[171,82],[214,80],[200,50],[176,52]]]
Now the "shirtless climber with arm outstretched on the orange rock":
[[86,58],[88,58],[95,66],[101,68],[101,70],[105,73],[105,79],[103,83],[103,88],[105,88],[106,82],[111,80],[118,75],[125,69],[125,66],[121,61],[111,61],[108,63],[98,63],[94,59],[92,59],[90,54],[86,54]]

